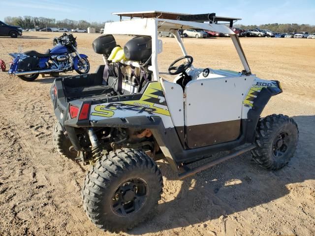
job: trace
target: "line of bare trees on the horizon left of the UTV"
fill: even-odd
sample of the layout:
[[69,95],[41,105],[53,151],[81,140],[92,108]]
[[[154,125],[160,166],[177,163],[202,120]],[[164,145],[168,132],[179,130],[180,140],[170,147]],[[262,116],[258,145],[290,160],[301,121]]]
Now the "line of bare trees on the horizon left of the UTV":
[[[67,29],[76,29],[82,28],[87,29],[88,27],[94,27],[97,31],[104,27],[105,22],[87,22],[85,20],[56,20],[54,18],[46,17],[32,17],[32,16],[19,16],[11,17],[7,16],[4,18],[4,22],[12,26],[20,26],[23,29],[34,29],[35,27],[39,28],[67,28]],[[111,22],[111,21],[106,21]]]

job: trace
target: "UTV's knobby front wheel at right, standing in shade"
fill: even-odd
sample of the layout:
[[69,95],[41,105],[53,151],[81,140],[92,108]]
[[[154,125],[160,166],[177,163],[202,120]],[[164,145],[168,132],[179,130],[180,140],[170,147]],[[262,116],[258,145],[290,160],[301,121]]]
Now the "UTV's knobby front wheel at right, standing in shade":
[[299,130],[292,118],[271,115],[261,119],[256,128],[257,148],[252,150],[253,159],[263,168],[279,170],[294,155]]

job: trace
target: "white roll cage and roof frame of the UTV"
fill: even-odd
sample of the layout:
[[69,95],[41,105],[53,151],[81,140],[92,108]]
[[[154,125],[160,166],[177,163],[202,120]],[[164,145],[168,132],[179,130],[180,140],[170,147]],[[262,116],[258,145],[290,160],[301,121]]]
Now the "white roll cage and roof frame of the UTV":
[[[240,44],[239,38],[235,32],[222,24],[214,23],[203,23],[202,20],[207,20],[207,18],[198,18],[195,22],[196,15],[179,15],[178,13],[165,13],[165,12],[131,12],[131,13],[113,13],[119,15],[121,21],[119,22],[108,22],[105,23],[104,34],[128,34],[128,35],[148,35],[152,37],[152,66],[149,66],[149,70],[153,72],[154,80],[159,81],[159,70],[158,70],[158,54],[162,52],[162,41],[158,39],[158,31],[170,31],[174,34],[174,38],[177,41],[183,56],[187,56],[187,51],[181,39],[178,30],[184,29],[202,29],[202,30],[212,30],[216,32],[221,32],[229,34],[232,42],[235,46],[235,49],[238,53],[238,56],[243,64],[244,70],[243,74],[251,74],[251,69],[248,64],[248,61],[245,57],[244,51]],[[214,13],[212,13],[214,14]],[[204,14],[203,14],[204,15]],[[211,14],[209,14],[210,16]],[[130,16],[128,20],[122,20],[122,16]],[[194,17],[192,17],[194,16]],[[209,22],[218,23],[221,21],[232,21],[239,20],[239,18],[223,18],[215,17],[209,18]],[[135,19],[134,17],[141,17],[140,19]],[[158,17],[167,17],[169,19],[162,19]],[[189,19],[189,17],[191,19]],[[175,19],[185,19],[175,20]],[[201,20],[200,20],[201,19]],[[230,24],[231,25],[231,24]],[[136,61],[120,61],[123,64],[139,67],[139,64]]]

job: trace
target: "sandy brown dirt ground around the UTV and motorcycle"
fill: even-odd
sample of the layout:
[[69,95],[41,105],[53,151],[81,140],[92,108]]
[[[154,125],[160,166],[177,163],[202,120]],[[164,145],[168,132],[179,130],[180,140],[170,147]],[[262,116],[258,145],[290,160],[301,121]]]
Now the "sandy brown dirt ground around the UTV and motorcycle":
[[[9,52],[52,47],[61,33],[25,32],[0,37],[0,59]],[[98,34],[77,34],[91,72],[102,63],[92,49]],[[130,37],[117,37],[124,45]],[[162,38],[161,71],[181,54],[174,39]],[[252,72],[279,80],[284,92],[263,115],[293,117],[300,138],[296,154],[280,171],[263,170],[247,153],[185,180],[160,161],[162,199],[151,219],[119,235],[313,236],[315,235],[315,40],[241,38]],[[240,71],[229,38],[185,38],[194,66]],[[73,73],[75,74],[75,72]],[[54,78],[32,83],[0,72],[0,236],[110,235],[83,212],[80,189],[89,166],[60,156],[52,145],[55,122],[49,89]],[[114,234],[115,235],[115,234]]]

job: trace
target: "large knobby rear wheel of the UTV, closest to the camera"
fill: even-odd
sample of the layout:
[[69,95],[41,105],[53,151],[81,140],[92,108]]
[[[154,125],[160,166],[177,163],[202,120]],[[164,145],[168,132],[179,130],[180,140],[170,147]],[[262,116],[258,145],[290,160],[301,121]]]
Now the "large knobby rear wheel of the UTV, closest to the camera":
[[150,215],[162,187],[158,166],[148,155],[118,149],[103,156],[88,172],[82,188],[83,207],[100,229],[126,231]]

